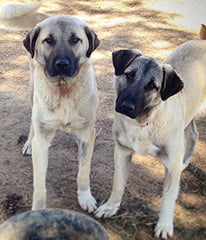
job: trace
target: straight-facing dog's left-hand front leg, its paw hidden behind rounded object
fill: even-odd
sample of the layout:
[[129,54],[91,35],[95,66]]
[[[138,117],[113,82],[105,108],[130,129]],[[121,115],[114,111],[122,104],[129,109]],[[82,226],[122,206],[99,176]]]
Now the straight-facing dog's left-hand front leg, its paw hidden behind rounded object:
[[48,165],[48,148],[54,130],[45,130],[33,121],[34,137],[32,139],[33,163],[33,202],[32,210],[46,208],[46,171]]

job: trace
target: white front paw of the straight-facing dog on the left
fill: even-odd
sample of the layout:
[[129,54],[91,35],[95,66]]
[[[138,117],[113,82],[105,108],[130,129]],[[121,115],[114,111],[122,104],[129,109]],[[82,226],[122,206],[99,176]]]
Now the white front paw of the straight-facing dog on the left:
[[97,202],[92,196],[90,189],[86,191],[78,190],[78,202],[82,209],[91,213],[97,209]]

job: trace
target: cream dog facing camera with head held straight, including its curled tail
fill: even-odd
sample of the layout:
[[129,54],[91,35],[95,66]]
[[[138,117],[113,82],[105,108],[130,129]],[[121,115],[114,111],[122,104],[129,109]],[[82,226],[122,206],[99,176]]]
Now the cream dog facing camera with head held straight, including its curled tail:
[[22,21],[27,21],[24,26],[28,27],[46,18],[24,40],[30,53],[32,122],[23,154],[32,151],[32,209],[46,207],[48,148],[56,130],[69,127],[77,135],[79,148],[78,201],[84,210],[92,212],[96,201],[89,175],[98,92],[91,54],[99,39],[85,22],[71,16],[41,15],[30,22],[29,16],[34,16],[36,9],[32,4],[11,4],[2,10],[6,21],[15,27]]

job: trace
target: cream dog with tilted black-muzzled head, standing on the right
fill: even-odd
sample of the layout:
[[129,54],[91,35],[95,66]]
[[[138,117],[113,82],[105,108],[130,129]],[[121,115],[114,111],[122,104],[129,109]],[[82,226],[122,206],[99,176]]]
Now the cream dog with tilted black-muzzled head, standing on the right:
[[180,175],[188,166],[198,131],[195,116],[206,94],[206,41],[178,47],[163,63],[140,50],[113,53],[116,112],[113,124],[115,172],[109,200],[96,211],[111,217],[120,207],[134,152],[156,157],[165,180],[155,236],[173,235]]

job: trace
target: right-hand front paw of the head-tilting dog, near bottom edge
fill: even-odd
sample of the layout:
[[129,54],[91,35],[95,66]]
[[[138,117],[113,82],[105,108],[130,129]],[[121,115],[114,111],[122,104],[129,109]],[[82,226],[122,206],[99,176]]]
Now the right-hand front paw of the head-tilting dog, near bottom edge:
[[155,237],[167,239],[173,236],[173,223],[168,223],[167,221],[158,221],[155,227]]

